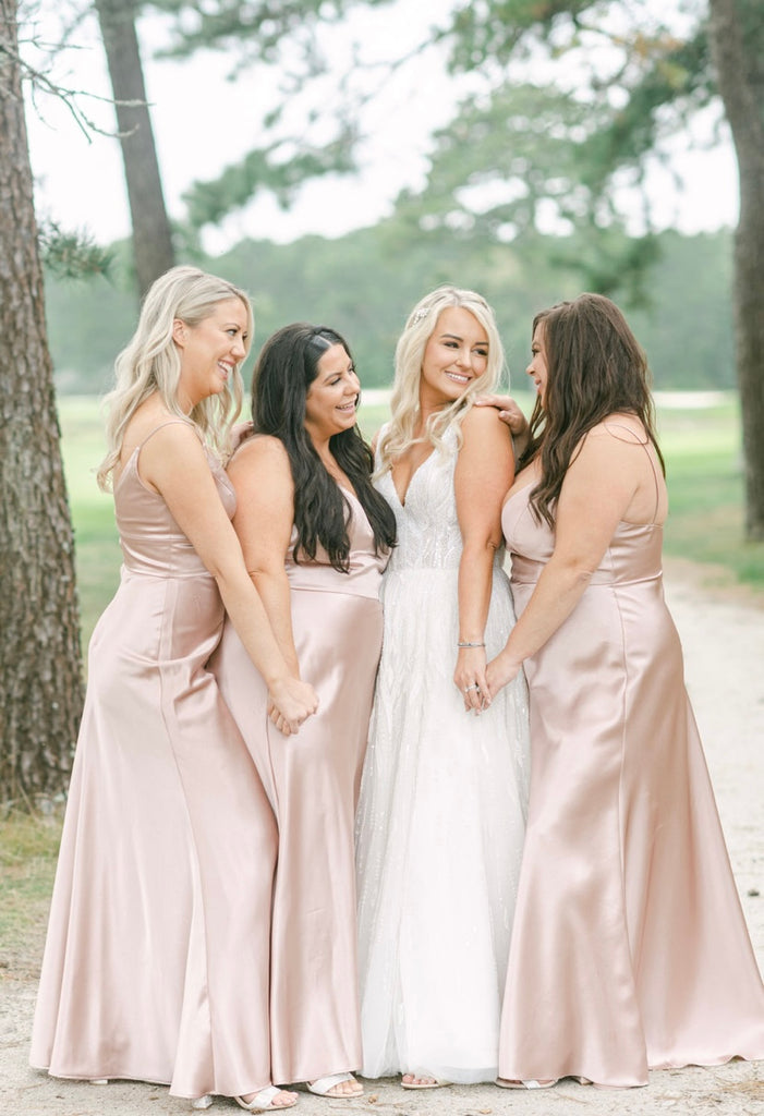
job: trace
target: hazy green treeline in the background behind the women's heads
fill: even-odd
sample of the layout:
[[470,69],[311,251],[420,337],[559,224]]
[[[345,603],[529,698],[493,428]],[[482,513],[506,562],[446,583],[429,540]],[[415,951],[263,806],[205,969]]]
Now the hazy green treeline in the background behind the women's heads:
[[[657,238],[657,262],[636,302],[634,292],[620,298],[613,292],[647,350],[658,389],[734,386],[731,240],[728,230],[695,237],[664,232]],[[127,246],[113,246],[113,251],[110,280],[46,279],[61,394],[105,392],[114,357],[135,326],[134,285],[124,262]],[[473,287],[496,310],[513,384],[519,386],[533,314],[580,290],[580,277],[570,266],[576,251],[574,241],[559,237],[526,239],[518,250],[443,232],[410,235],[410,229],[390,220],[333,240],[242,241],[224,256],[197,254],[194,262],[251,294],[255,352],[286,323],[331,325],[350,341],[366,387],[390,383],[396,338],[424,292],[441,282]]]

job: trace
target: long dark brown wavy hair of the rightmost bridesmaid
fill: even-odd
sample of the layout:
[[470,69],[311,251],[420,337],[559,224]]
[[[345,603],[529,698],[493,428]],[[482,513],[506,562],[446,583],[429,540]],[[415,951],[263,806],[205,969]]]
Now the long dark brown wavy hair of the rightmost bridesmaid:
[[531,492],[539,520],[554,527],[553,506],[577,446],[612,414],[632,414],[666,466],[655,432],[647,358],[626,318],[603,295],[579,295],[533,319],[542,326],[547,389],[535,401],[531,437],[518,469],[541,456],[541,480]]

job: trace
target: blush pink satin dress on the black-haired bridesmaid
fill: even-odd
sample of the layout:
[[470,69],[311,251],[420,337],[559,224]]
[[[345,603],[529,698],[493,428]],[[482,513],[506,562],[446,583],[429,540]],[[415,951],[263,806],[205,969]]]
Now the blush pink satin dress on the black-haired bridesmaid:
[[[271,1059],[279,1084],[361,1065],[354,816],[381,647],[387,556],[346,491],[350,570],[286,558],[301,676],[320,700],[294,737],[268,720],[265,685],[226,622],[212,662],[278,826],[272,895]],[[294,536],[291,547],[294,546]],[[270,878],[271,865],[263,864]],[[271,902],[263,911],[271,916]],[[264,954],[268,958],[268,953]],[[341,1101],[340,1101],[341,1103]]]

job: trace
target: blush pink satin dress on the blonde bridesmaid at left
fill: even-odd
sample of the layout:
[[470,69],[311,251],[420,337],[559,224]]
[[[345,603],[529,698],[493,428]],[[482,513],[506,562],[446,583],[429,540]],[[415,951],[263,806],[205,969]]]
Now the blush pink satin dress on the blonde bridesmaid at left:
[[270,1081],[273,820],[205,666],[217,587],[138,453],[115,485],[124,566],[89,648],[30,1060],[231,1096]]

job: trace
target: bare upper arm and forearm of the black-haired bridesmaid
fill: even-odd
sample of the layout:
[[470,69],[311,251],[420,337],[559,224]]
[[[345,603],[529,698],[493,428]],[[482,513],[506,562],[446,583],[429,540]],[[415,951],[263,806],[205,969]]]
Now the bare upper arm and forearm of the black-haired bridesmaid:
[[265,607],[281,654],[299,677],[284,568],[294,522],[294,483],[283,444],[270,436],[248,442],[229,465],[229,478],[236,492],[233,528],[244,565]]

